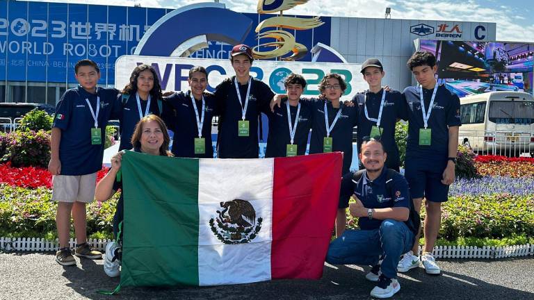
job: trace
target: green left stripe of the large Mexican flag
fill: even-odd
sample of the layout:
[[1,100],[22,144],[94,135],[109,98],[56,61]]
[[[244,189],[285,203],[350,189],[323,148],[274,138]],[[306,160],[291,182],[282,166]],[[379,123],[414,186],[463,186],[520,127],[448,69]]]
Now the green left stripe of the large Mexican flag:
[[198,160],[127,151],[120,284],[198,285]]

